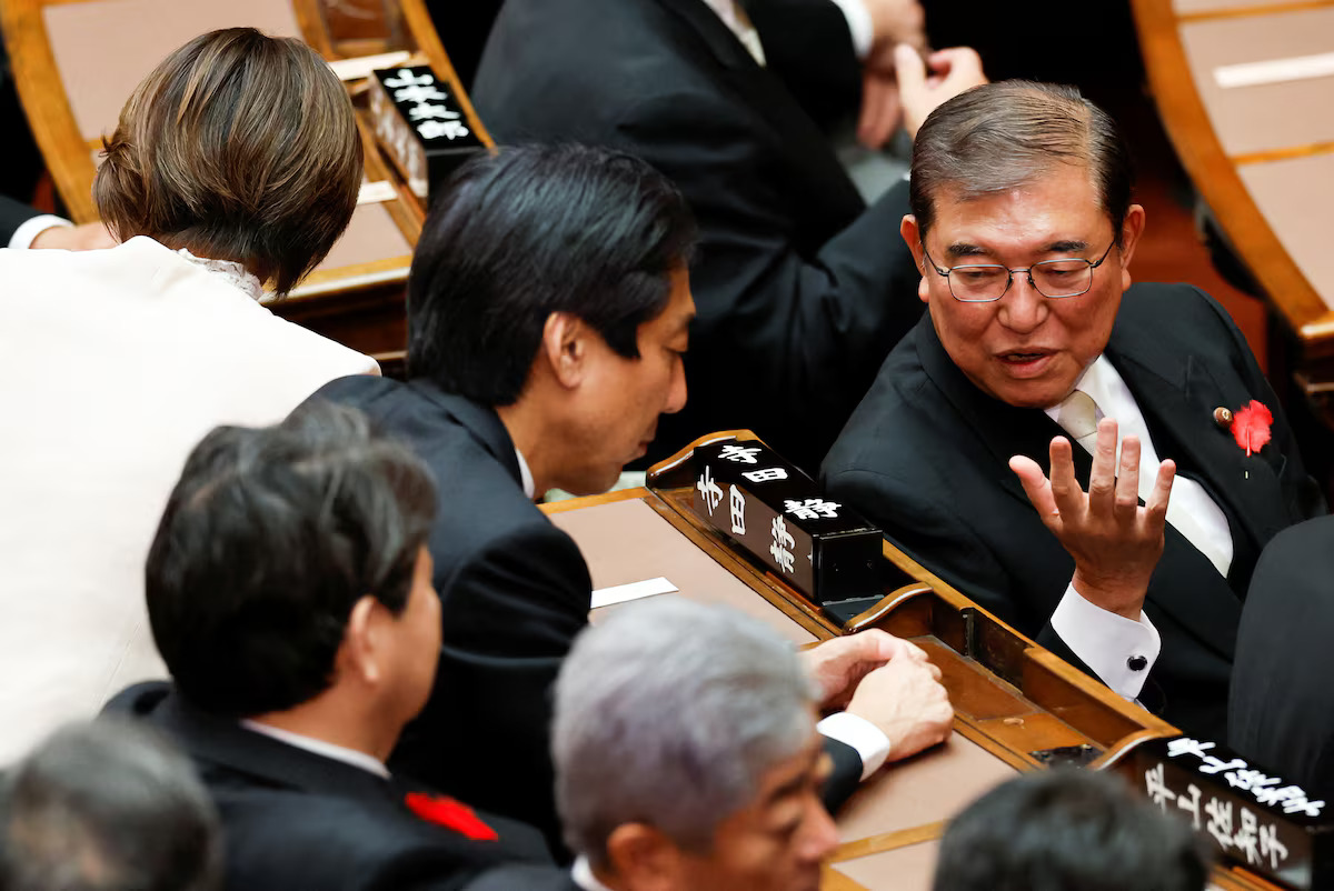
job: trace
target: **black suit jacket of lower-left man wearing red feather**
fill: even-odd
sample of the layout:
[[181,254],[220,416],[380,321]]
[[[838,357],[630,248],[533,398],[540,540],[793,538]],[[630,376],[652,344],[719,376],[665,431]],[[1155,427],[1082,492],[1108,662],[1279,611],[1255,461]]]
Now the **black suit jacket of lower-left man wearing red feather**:
[[499,838],[468,839],[408,808],[426,787],[209,716],[165,682],[131,687],[107,711],[148,720],[195,762],[221,816],[229,890],[443,891],[498,864],[550,863],[532,827],[478,814]]

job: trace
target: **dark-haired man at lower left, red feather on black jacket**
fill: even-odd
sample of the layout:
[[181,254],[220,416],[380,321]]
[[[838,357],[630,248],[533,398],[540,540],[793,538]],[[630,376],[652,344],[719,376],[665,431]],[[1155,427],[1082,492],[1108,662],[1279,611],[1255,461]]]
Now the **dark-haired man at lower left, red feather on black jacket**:
[[548,859],[531,827],[384,766],[440,640],[430,472],[355,411],[220,427],[185,463],[148,555],[173,687],[108,706],[193,759],[224,830],[225,887],[452,888]]

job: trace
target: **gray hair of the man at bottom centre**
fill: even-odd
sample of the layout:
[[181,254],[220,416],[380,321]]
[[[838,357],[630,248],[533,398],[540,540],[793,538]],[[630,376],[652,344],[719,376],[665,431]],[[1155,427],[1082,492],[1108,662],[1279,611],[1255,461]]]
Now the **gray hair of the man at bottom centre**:
[[754,619],[678,598],[624,607],[575,642],[551,752],[566,842],[594,863],[644,822],[707,852],[766,771],[811,739],[815,687]]

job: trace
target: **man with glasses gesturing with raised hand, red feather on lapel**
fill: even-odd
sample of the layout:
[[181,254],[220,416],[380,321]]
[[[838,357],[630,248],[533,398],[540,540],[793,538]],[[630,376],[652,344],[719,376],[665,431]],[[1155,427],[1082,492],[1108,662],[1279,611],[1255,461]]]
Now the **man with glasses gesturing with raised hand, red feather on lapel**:
[[[900,227],[928,313],[823,479],[1019,631],[1222,738],[1255,558],[1323,502],[1226,311],[1130,287],[1130,191],[1115,124],[1073,89],[1007,81],[940,105]],[[1247,417],[1270,433],[1250,450]]]

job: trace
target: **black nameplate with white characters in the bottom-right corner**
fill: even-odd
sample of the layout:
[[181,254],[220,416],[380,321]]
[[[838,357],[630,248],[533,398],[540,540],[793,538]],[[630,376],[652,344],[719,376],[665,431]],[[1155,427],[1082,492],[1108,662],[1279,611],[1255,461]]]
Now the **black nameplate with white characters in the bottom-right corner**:
[[1301,787],[1187,736],[1143,743],[1134,766],[1154,804],[1190,820],[1229,860],[1294,888],[1334,887],[1334,823]]

